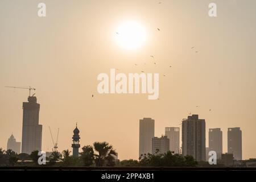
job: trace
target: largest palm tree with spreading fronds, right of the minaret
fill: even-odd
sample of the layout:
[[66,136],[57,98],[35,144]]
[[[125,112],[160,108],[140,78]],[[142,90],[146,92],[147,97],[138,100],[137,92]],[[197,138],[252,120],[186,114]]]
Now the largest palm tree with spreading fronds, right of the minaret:
[[94,142],[93,147],[97,152],[94,155],[96,166],[114,166],[114,156],[117,155],[117,152],[112,145],[109,145],[108,142]]

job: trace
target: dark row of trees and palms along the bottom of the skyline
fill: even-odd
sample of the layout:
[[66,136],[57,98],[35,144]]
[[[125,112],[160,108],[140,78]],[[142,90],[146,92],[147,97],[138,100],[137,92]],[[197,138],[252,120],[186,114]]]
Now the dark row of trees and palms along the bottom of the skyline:
[[[71,151],[53,151],[46,159],[45,166],[88,166],[88,167],[195,167],[197,162],[192,156],[183,156],[168,151],[160,154],[143,154],[139,160],[115,160],[117,152],[108,142],[94,142],[92,146],[81,148],[79,158],[73,158]],[[0,166],[38,166],[39,151],[28,154],[16,154],[12,150],[0,148]]]

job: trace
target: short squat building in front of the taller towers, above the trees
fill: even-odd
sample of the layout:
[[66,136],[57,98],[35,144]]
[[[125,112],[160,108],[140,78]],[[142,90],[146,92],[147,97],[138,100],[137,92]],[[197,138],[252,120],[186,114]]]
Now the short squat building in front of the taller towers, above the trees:
[[168,151],[170,151],[170,139],[168,139],[167,136],[152,138],[152,154],[156,152],[164,154]]

